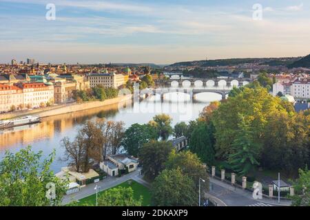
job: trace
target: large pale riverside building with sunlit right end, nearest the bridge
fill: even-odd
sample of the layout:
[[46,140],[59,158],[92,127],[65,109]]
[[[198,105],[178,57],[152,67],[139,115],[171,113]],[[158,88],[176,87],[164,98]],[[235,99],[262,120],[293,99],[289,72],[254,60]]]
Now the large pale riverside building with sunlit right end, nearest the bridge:
[[125,77],[123,74],[89,74],[87,80],[90,81],[90,87],[103,85],[105,88],[117,89],[125,84]]

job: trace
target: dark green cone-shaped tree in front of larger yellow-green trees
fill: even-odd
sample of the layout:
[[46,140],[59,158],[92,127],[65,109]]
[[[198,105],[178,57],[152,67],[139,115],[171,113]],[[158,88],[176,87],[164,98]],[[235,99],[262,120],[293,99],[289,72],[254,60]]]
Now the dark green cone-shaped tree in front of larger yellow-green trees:
[[249,124],[242,117],[240,124],[238,124],[238,133],[231,145],[235,153],[228,156],[231,168],[240,175],[247,175],[254,170],[255,166],[259,165],[258,155],[261,145],[254,141]]

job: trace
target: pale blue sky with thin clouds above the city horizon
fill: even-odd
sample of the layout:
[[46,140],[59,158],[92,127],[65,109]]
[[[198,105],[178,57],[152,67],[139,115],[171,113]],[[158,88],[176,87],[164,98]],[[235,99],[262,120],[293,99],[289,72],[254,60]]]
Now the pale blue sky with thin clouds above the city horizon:
[[306,56],[310,0],[0,0],[0,33],[0,63]]

